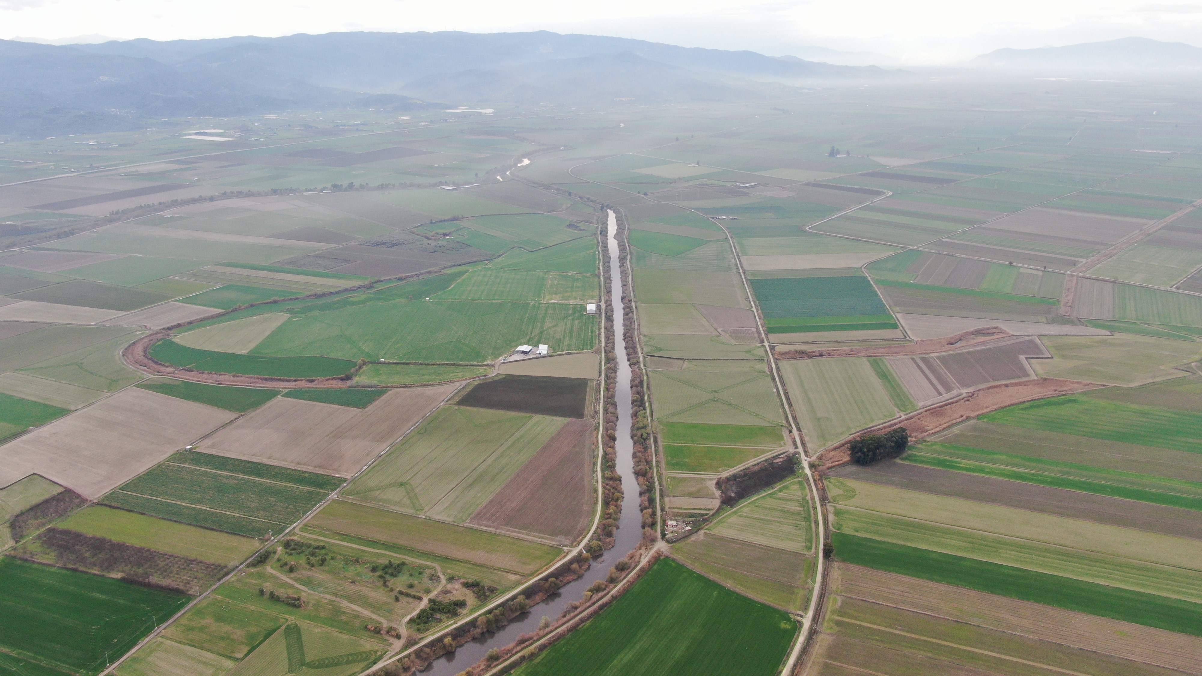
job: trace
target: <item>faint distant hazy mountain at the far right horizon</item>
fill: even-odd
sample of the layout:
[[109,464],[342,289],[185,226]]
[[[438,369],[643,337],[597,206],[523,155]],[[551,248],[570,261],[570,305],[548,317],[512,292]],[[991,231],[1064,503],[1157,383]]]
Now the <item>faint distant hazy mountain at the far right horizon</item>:
[[1202,48],[1184,42],[1124,37],[1067,47],[998,49],[970,61],[974,66],[1070,72],[1183,71],[1202,69]]

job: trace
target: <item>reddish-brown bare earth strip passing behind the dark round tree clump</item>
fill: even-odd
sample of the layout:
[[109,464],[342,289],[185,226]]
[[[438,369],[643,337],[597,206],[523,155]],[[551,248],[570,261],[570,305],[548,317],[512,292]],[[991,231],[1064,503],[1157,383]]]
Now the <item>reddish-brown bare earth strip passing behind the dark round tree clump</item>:
[[[958,422],[970,417],[984,415],[1023,402],[1045,399],[1060,395],[1071,395],[1083,390],[1102,387],[1094,383],[1081,380],[1061,380],[1059,378],[1041,378],[1039,380],[1023,380],[1020,383],[1002,383],[974,390],[956,399],[942,404],[922,409],[906,415],[899,420],[891,420],[883,425],[877,425],[864,429],[863,433],[881,432],[893,427],[905,427],[910,432],[911,440],[924,439],[936,432],[941,432]],[[851,453],[847,444],[840,444],[821,451],[822,468],[826,473],[835,467],[851,462]]]

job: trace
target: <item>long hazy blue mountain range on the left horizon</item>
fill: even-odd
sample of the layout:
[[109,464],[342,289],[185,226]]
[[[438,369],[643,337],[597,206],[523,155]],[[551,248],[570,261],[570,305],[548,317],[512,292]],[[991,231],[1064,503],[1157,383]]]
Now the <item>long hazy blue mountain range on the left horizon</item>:
[[[132,129],[145,119],[387,101],[688,102],[893,77],[755,52],[555,32],[331,32],[287,37],[0,41],[0,134]],[[380,99],[380,95],[389,95]],[[374,103],[373,103],[374,105]]]

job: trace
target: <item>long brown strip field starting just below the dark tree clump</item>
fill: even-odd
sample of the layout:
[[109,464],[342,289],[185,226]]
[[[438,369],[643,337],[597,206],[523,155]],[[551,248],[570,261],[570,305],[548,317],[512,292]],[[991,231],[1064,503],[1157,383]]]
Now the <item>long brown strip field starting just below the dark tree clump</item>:
[[1194,510],[1124,500],[1022,481],[1007,481],[950,469],[883,461],[870,467],[847,464],[833,475],[950,496],[1095,523],[1202,540],[1202,518]]

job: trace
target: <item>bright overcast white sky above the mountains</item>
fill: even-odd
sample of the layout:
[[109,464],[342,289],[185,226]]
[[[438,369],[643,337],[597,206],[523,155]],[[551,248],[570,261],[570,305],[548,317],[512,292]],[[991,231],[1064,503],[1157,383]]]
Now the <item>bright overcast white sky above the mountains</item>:
[[1202,46],[1202,1],[0,0],[0,37],[178,40],[338,30],[554,30],[770,55],[805,46],[953,63],[1000,47],[1138,35]]

